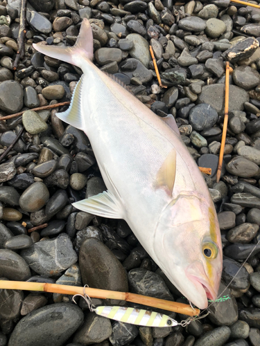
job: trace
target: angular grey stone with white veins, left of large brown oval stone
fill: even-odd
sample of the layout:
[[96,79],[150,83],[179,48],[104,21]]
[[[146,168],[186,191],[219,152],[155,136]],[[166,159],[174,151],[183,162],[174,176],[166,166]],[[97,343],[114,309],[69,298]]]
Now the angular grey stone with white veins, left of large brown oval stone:
[[21,257],[40,275],[53,276],[75,264],[78,257],[66,233],[46,239],[21,251]]

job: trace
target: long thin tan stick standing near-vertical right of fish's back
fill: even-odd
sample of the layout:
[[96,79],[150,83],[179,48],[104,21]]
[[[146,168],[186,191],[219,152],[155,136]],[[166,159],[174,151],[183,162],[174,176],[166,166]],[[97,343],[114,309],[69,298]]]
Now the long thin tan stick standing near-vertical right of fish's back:
[[226,62],[226,78],[225,78],[225,118],[223,123],[223,131],[222,131],[222,139],[221,139],[221,146],[220,146],[220,154],[218,159],[218,171],[216,174],[216,182],[219,183],[220,181],[220,174],[222,170],[222,164],[223,164],[223,156],[224,156],[224,149],[225,149],[225,141],[227,136],[227,120],[228,120],[228,102],[229,102],[229,62]]

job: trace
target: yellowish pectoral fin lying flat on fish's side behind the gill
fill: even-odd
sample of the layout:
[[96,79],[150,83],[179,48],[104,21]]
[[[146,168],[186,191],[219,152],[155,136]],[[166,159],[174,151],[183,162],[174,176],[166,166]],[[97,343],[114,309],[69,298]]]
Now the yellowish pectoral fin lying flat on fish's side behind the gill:
[[156,177],[156,187],[165,187],[170,194],[173,194],[173,186],[176,174],[176,151],[172,149],[166,160],[159,169]]

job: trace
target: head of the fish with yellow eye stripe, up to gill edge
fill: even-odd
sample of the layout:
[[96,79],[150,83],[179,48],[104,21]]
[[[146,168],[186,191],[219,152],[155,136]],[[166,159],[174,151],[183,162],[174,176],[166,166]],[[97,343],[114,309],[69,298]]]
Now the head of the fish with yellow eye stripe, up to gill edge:
[[216,300],[223,260],[211,199],[185,194],[171,201],[160,215],[154,252],[168,279],[196,307]]

